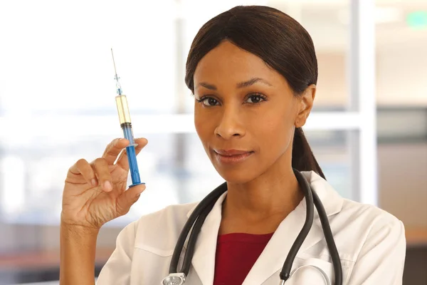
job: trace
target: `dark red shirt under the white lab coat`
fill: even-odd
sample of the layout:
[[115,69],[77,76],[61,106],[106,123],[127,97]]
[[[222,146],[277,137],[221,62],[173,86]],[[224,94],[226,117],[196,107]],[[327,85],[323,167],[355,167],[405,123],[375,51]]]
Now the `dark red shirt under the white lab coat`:
[[214,285],[241,285],[272,236],[273,233],[218,236]]

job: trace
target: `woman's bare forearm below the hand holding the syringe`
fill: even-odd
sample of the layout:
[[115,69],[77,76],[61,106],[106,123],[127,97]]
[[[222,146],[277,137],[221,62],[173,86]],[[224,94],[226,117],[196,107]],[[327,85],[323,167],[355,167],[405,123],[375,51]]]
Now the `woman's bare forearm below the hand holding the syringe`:
[[60,224],[60,285],[95,284],[97,230]]

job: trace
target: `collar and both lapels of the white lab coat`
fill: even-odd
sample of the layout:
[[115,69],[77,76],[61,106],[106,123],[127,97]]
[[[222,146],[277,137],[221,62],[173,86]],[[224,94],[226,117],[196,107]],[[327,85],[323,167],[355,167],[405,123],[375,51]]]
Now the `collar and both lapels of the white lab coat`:
[[[319,196],[328,217],[337,214],[342,209],[342,197],[335,192],[328,182],[315,172],[302,172],[302,175],[305,176],[312,186],[312,189]],[[194,257],[191,261],[203,285],[211,285],[214,283],[216,242],[218,229],[221,224],[222,203],[225,197],[226,192],[221,195],[208,217],[206,217],[196,242]],[[193,211],[194,208],[189,211],[187,216],[189,217]],[[292,244],[295,242],[302,228],[302,224],[305,222],[305,213],[306,205],[304,198],[300,204],[288,214],[288,217],[283,219],[283,222],[280,223],[273,237],[271,237],[270,242],[268,242],[248,276],[246,276],[243,285],[263,284],[263,282],[275,274],[276,271],[281,270],[290,247],[292,247]],[[315,210],[315,221],[299,252],[304,252],[305,249],[312,247],[322,239],[325,239],[325,236],[322,231],[319,215],[317,214],[317,210]]]

